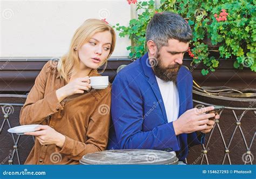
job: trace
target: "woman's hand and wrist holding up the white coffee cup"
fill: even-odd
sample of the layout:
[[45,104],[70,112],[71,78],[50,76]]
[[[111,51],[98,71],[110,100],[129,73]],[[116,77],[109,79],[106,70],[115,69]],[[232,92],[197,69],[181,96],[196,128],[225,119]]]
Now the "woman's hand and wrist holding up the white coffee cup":
[[70,95],[81,93],[83,94],[84,91],[90,91],[91,85],[90,85],[90,79],[89,77],[84,78],[77,78],[73,81],[70,81],[69,84],[59,88],[56,90],[56,95],[58,98],[58,101],[62,101],[66,97],[69,97]]

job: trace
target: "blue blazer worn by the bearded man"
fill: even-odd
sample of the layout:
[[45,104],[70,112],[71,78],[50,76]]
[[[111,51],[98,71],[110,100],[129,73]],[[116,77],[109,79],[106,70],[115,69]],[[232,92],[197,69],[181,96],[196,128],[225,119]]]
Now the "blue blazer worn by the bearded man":
[[[192,75],[181,66],[177,76],[179,115],[193,108]],[[176,151],[185,161],[188,145],[200,141],[195,132],[175,135],[173,123],[167,121],[164,101],[146,53],[123,68],[112,84],[109,143],[107,149],[155,149]],[[171,109],[169,109],[171,110]]]

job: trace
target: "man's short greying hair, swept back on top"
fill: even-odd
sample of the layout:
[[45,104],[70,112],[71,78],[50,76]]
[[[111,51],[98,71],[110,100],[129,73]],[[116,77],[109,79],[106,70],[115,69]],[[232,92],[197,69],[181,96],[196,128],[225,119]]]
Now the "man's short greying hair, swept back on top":
[[173,12],[156,13],[147,24],[146,42],[153,40],[158,50],[166,46],[169,39],[190,42],[192,30],[186,20]]

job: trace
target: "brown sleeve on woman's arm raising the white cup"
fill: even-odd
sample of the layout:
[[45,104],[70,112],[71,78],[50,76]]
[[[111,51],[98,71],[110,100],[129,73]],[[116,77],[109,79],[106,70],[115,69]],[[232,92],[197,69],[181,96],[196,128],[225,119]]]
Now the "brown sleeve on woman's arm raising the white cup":
[[50,62],[48,61],[38,74],[35,85],[29,92],[25,104],[21,109],[21,113],[19,114],[21,125],[41,123],[47,116],[63,109],[64,102],[58,101],[56,90],[45,94],[49,65]]

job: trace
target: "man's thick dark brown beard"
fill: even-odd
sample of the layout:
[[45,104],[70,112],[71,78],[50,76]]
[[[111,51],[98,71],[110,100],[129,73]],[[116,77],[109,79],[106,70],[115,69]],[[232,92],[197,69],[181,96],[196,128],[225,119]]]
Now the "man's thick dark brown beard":
[[154,59],[157,60],[156,65],[152,66],[154,74],[161,80],[164,80],[165,82],[173,81],[175,84],[177,84],[177,75],[181,65],[176,63],[174,65],[164,67],[160,57],[160,53],[157,53]]

